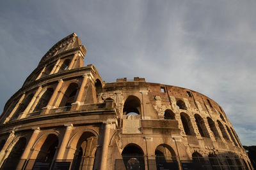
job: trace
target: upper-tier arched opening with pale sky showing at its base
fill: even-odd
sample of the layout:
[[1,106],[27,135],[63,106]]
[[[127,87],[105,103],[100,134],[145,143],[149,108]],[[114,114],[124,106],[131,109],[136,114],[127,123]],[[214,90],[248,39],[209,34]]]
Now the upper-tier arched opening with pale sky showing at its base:
[[136,96],[129,96],[124,103],[123,115],[140,115],[140,99]]

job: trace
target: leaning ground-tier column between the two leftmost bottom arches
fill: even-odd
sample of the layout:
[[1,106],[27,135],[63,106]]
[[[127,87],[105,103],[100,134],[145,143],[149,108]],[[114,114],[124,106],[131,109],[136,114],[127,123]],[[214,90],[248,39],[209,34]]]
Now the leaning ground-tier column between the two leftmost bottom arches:
[[17,169],[22,169],[22,166],[24,165],[24,163],[26,162],[26,160],[29,159],[29,153],[30,153],[30,150],[33,146],[33,144],[35,143],[36,141],[36,138],[40,132],[40,128],[39,127],[34,127],[32,128],[34,131],[33,131],[33,134],[31,136],[31,138],[29,139],[29,142],[28,142],[28,145],[26,146],[24,152],[22,153],[22,156],[20,157],[20,160],[19,160],[19,164],[17,166]]

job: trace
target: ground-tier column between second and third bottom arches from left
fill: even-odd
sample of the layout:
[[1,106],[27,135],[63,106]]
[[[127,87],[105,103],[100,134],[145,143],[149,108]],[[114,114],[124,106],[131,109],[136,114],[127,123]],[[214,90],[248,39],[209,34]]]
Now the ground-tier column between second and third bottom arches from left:
[[56,157],[56,159],[59,159],[59,160],[63,159],[63,157],[64,157],[64,153],[65,153],[65,150],[66,150],[68,139],[69,139],[70,134],[71,134],[72,129],[73,129],[73,124],[65,124],[65,127],[66,127],[66,131],[65,131],[65,134],[64,134],[63,139],[61,141],[61,145],[60,145],[60,148],[59,148],[59,151],[58,151],[58,155]]

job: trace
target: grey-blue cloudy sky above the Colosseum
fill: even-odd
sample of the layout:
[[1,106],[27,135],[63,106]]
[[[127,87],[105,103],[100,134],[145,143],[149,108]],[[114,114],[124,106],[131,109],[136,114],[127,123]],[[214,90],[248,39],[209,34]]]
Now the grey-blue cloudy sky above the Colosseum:
[[0,112],[72,32],[102,78],[186,87],[220,104],[256,145],[256,1],[1,1]]

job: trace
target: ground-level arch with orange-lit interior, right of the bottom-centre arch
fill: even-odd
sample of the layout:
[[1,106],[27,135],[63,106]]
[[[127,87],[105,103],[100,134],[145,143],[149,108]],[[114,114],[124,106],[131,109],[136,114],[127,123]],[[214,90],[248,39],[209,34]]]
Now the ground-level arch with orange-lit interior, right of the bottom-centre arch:
[[171,146],[161,144],[155,150],[156,167],[158,169],[178,169],[176,155]]

